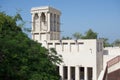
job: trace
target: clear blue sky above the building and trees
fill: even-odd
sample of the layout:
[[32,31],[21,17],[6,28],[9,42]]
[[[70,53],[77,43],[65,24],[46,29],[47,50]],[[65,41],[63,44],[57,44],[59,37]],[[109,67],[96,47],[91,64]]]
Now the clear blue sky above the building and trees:
[[120,38],[120,0],[0,0],[0,10],[9,15],[22,9],[27,27],[31,27],[30,9],[47,5],[62,12],[62,36],[71,36],[74,32],[84,34],[91,28],[110,42]]

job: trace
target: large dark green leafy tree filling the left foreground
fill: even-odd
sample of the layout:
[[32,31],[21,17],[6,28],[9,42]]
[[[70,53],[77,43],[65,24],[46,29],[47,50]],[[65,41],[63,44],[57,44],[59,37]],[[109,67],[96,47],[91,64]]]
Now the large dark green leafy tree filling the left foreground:
[[0,12],[0,80],[59,80],[61,56],[29,39],[18,20]]

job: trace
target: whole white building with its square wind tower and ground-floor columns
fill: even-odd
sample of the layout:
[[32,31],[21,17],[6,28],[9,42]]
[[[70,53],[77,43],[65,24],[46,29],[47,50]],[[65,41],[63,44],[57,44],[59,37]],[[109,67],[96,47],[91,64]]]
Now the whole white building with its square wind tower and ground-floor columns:
[[47,49],[55,48],[62,55],[63,63],[58,65],[62,80],[102,80],[106,69],[102,40],[61,40],[59,10],[34,7],[31,14],[32,39]]

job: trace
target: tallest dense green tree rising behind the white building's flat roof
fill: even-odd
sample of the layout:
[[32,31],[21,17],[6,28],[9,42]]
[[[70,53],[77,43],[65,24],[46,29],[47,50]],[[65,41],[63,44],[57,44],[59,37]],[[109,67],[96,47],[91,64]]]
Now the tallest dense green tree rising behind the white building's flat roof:
[[82,39],[97,39],[97,33],[94,32],[92,29],[89,29],[85,36],[82,36]]

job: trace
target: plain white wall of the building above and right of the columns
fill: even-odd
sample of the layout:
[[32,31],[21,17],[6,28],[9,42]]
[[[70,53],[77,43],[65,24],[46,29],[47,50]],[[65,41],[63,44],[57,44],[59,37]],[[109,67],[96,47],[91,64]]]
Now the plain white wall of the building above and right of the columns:
[[103,47],[97,45],[101,40],[51,40],[45,43],[46,48],[55,48],[62,55],[64,62],[61,65],[92,67],[93,80],[97,80],[103,69]]

